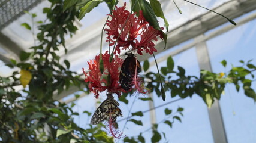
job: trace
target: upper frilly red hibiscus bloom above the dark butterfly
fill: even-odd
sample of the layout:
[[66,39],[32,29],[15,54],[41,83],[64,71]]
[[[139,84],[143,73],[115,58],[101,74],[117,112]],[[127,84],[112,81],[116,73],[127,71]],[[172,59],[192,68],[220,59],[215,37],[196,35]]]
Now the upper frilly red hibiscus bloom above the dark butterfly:
[[[138,51],[138,54],[142,55],[141,51],[153,54],[156,52],[154,41],[157,41],[157,37],[160,36],[163,39],[162,33],[159,30],[154,29],[143,17],[142,11],[140,11],[139,17],[136,17],[135,13],[131,14],[125,10],[126,4],[123,7],[116,7],[113,10],[112,20],[107,20],[106,28],[107,42],[110,42],[110,46],[115,45],[116,52],[120,54],[120,48],[132,49]],[[121,32],[121,33],[120,33]],[[119,35],[120,33],[120,35]]]

